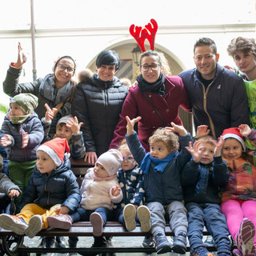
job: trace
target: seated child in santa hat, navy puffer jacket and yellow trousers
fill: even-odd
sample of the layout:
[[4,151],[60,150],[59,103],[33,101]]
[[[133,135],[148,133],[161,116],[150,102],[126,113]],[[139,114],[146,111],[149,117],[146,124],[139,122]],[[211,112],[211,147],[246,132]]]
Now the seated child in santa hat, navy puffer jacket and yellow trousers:
[[37,164],[18,205],[18,214],[0,214],[3,229],[34,238],[48,227],[48,216],[77,209],[81,195],[70,170],[69,151],[66,138],[54,138],[38,147]]

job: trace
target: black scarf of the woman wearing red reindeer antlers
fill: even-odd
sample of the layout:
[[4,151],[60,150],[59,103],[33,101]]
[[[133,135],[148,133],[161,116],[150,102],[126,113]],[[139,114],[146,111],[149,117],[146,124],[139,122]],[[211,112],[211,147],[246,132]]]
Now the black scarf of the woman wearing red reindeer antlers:
[[153,94],[160,94],[162,96],[166,95],[166,76],[162,73],[160,73],[159,78],[156,82],[146,82],[146,80],[142,77],[142,74],[140,74],[136,78],[138,82],[138,88],[140,90],[147,90],[152,92]]

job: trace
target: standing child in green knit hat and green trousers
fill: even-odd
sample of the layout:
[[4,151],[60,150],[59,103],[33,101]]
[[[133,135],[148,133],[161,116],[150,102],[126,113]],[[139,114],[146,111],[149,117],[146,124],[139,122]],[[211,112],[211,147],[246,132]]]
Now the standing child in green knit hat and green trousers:
[[[10,111],[6,114],[0,130],[0,144],[6,147],[9,176],[24,194],[37,162],[36,151],[44,133],[38,114],[34,109],[38,98],[33,94],[18,94],[10,100]],[[18,205],[22,196],[15,198]]]

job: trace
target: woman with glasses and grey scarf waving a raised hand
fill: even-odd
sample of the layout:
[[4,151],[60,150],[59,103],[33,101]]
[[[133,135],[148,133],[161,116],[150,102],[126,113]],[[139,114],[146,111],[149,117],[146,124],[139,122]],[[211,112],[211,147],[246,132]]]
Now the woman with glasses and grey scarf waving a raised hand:
[[3,82],[3,90],[10,97],[20,93],[30,93],[38,97],[38,107],[34,110],[38,118],[43,118],[46,114],[45,104],[50,109],[57,108],[50,127],[50,134],[55,134],[56,124],[59,118],[71,112],[71,98],[76,82],[72,80],[76,63],[70,56],[62,56],[54,62],[53,74],[46,74],[44,78],[38,78],[35,82],[18,83],[18,78],[22,74],[22,65],[26,62],[26,55],[22,46],[18,43],[18,60],[12,62],[7,70],[6,79]]

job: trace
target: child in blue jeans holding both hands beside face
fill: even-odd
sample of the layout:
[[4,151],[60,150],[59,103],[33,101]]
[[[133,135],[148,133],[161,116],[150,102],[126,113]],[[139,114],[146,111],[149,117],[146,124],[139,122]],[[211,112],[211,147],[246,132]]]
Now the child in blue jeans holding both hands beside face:
[[217,143],[207,135],[193,146],[190,142],[186,148],[193,157],[182,170],[191,255],[213,256],[202,243],[204,226],[214,238],[218,256],[231,255],[229,230],[219,195],[229,180],[226,162],[222,160],[222,145],[223,138]]

